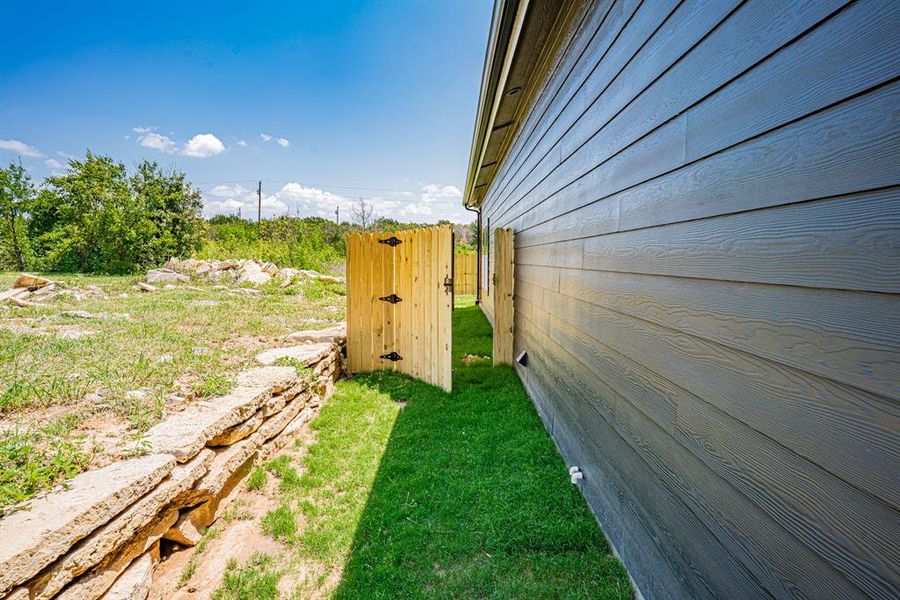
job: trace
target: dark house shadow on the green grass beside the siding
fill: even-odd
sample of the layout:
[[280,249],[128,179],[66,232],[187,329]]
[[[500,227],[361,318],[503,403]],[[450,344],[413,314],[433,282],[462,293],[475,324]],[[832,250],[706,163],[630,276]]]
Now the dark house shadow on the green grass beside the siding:
[[478,307],[458,308],[454,391],[358,375],[398,402],[338,598],[629,598],[515,372],[490,361]]

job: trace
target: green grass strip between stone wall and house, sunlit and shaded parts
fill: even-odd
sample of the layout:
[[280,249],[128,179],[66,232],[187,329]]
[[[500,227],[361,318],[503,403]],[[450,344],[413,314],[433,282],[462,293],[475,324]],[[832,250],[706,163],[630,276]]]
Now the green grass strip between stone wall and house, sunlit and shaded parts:
[[318,565],[301,598],[632,597],[513,369],[462,363],[491,353],[479,309],[453,325],[452,393],[396,373],[339,382],[300,477],[270,468],[267,526],[289,552],[260,576]]

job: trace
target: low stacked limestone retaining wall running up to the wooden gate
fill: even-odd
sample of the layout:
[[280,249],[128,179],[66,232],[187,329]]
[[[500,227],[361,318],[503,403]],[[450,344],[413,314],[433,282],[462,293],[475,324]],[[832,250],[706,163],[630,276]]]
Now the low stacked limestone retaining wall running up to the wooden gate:
[[343,372],[342,344],[295,352],[302,373],[242,372],[225,396],[150,429],[133,448],[141,456],[83,473],[0,519],[0,598],[146,598],[160,540],[196,544],[229,492],[297,437]]

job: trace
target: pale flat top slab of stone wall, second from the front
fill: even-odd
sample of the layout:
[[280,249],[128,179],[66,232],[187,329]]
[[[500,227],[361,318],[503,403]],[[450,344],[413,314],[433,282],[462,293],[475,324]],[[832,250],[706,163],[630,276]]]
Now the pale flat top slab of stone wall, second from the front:
[[245,421],[268,400],[297,380],[291,367],[262,367],[244,371],[237,385],[225,396],[198,402],[153,426],[143,438],[153,452],[173,455],[184,462],[196,455],[207,441],[229,427]]

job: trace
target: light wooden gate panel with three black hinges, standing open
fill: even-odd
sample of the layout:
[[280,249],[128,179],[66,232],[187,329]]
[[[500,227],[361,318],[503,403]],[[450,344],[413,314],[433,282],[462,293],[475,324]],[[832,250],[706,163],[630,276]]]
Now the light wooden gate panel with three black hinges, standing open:
[[347,363],[396,370],[450,391],[453,232],[449,226],[347,239]]

